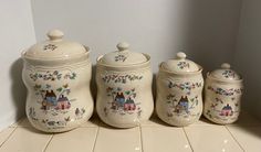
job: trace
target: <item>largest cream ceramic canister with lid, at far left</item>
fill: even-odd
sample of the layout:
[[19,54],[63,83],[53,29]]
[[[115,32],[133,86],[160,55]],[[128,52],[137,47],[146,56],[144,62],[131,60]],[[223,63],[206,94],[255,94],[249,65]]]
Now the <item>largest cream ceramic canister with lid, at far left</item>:
[[22,53],[28,88],[27,116],[45,132],[63,132],[86,122],[93,112],[88,48],[52,30],[49,40]]

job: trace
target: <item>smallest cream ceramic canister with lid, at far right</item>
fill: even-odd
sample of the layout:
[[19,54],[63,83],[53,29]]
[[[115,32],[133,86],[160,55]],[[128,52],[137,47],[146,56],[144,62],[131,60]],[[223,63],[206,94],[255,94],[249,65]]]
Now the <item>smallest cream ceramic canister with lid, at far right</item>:
[[238,120],[242,78],[225,63],[207,74],[203,116],[212,122],[227,124]]

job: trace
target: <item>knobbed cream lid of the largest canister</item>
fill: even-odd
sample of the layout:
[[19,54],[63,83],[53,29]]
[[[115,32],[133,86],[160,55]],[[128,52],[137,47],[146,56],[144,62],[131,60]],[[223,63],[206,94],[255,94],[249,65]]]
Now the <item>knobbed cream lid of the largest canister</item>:
[[70,59],[88,50],[80,43],[63,40],[64,34],[60,30],[51,30],[46,35],[49,40],[32,45],[23,56],[39,61]]

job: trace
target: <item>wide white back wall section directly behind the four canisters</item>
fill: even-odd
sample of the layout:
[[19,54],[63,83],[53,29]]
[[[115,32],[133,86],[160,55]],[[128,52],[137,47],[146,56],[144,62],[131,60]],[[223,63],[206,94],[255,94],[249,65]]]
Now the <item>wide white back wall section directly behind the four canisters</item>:
[[119,41],[157,65],[185,50],[206,69],[231,62],[241,0],[32,0],[38,41],[50,29],[92,48],[92,59]]

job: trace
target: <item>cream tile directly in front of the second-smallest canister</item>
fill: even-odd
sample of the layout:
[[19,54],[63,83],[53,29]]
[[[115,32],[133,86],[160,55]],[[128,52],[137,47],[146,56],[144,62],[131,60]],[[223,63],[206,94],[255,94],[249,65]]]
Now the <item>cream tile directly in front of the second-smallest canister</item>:
[[144,152],[191,152],[182,128],[142,128]]

